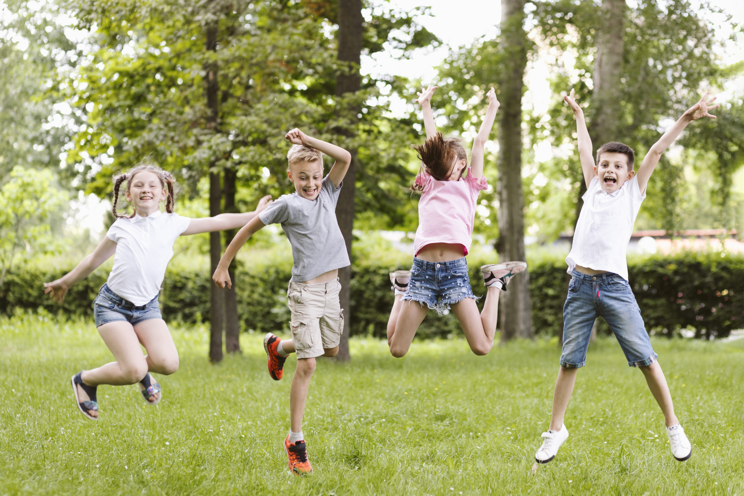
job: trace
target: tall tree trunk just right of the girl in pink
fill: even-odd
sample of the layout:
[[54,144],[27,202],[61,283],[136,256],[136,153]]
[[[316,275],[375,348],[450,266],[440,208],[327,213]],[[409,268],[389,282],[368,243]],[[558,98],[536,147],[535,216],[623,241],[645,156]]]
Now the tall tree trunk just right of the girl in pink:
[[[522,26],[525,0],[501,0],[501,50],[498,75],[498,231],[502,262],[525,260],[525,198],[522,194],[522,92],[527,66],[527,36]],[[501,294],[501,341],[532,338],[529,272],[514,277]]]

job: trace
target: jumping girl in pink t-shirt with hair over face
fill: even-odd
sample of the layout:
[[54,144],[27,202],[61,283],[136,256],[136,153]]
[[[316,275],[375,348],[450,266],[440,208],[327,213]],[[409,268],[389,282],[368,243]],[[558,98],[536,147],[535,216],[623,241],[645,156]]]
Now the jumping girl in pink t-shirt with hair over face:
[[[483,312],[478,312],[465,255],[472,242],[470,234],[478,195],[487,188],[483,155],[498,111],[498,100],[491,88],[486,94],[488,109],[472,145],[468,170],[461,139],[443,138],[434,125],[431,100],[435,89],[437,86],[429,86],[418,99],[423,109],[426,142],[415,147],[421,159],[421,170],[411,184],[411,190],[421,195],[414,263],[410,271],[390,274],[395,303],[388,320],[388,344],[395,357],[408,352],[429,309],[442,315],[451,308],[470,349],[476,355],[490,352],[496,334],[498,293],[506,291],[511,278],[527,268],[524,262],[483,265],[481,272],[487,294]],[[411,304],[412,301],[419,304]]]

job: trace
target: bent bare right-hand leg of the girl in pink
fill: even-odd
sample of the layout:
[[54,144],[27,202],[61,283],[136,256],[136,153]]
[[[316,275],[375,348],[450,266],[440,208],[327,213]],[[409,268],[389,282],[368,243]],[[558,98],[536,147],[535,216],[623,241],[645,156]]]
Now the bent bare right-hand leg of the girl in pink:
[[478,306],[472,298],[465,298],[452,305],[460,325],[465,333],[470,349],[475,355],[486,355],[493,348],[493,336],[496,335],[498,321],[498,288],[489,288],[483,312],[478,313]]

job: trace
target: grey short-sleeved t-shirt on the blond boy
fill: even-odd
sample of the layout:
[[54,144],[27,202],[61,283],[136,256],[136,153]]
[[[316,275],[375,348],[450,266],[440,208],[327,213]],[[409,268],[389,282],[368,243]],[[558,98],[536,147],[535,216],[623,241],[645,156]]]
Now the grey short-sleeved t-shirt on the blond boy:
[[281,224],[292,245],[292,280],[311,280],[334,268],[350,265],[346,243],[336,222],[336,202],[341,186],[326,175],[315,200],[296,192],[280,196],[258,216],[266,225]]

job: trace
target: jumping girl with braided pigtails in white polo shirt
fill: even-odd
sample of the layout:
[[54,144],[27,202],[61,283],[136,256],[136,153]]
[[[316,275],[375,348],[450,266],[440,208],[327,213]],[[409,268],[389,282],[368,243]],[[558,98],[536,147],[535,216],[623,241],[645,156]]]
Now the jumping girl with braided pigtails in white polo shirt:
[[[128,217],[116,212],[124,181],[126,201],[135,210]],[[83,370],[71,379],[77,406],[89,419],[98,419],[96,387],[100,384],[139,382],[145,401],[157,405],[161,387],[150,373],[170,375],[179,368],[179,354],[158,308],[158,292],[176,238],[241,228],[271,202],[270,196],[265,196],[254,212],[189,219],[173,213],[175,184],[173,175],[150,161],[115,178],[112,210],[116,221],[103,241],[68,274],[44,284],[44,292],[62,303],[70,286],[116,253],[109,280],[93,303],[98,333],[116,361]],[[166,213],[160,211],[161,202],[165,202]]]

